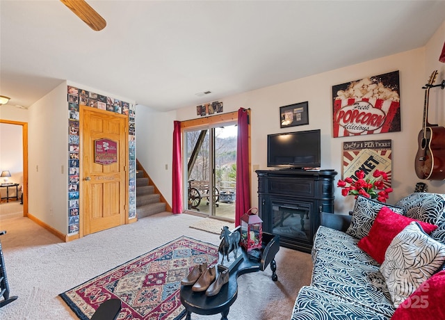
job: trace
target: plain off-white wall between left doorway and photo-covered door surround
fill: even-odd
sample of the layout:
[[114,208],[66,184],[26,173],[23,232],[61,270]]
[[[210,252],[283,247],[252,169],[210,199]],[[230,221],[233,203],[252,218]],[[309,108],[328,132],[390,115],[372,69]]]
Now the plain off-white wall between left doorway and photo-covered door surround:
[[29,214],[67,234],[68,120],[64,81],[29,108]]

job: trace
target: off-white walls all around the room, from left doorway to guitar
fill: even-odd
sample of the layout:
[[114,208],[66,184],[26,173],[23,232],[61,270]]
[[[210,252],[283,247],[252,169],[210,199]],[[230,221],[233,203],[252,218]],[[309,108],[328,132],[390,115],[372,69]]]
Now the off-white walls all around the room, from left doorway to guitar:
[[[445,22],[425,47],[332,70],[312,77],[296,79],[241,95],[216,98],[224,103],[224,112],[239,107],[252,109],[252,164],[266,169],[266,136],[277,132],[322,130],[322,166],[335,169],[341,176],[343,141],[361,137],[332,138],[332,86],[394,70],[400,71],[401,132],[375,134],[367,138],[393,141],[393,187],[390,203],[414,190],[419,179],[414,173],[417,134],[421,129],[423,90],[432,70],[439,70],[438,81],[445,78],[445,64],[438,58],[445,39]],[[72,84],[72,83],[70,83]],[[82,88],[85,88],[81,86]],[[33,104],[28,111],[1,106],[1,118],[29,122],[29,213],[56,230],[67,233],[67,82]],[[97,90],[96,90],[97,91]],[[99,91],[97,91],[99,93]],[[113,95],[111,95],[113,96]],[[430,122],[434,117],[445,125],[445,90],[432,90]],[[213,99],[211,101],[214,101]],[[209,102],[211,102],[209,101]],[[280,129],[279,108],[309,101],[309,125]],[[171,199],[172,131],[174,120],[197,118],[195,106],[161,113],[145,106],[136,107],[137,157],[165,198]],[[165,170],[165,164],[168,169]],[[38,170],[37,170],[38,166]],[[63,173],[62,173],[63,171]],[[336,181],[337,181],[336,179]],[[445,182],[427,182],[430,192],[445,192]],[[257,177],[252,173],[252,205],[258,205]],[[171,200],[170,200],[171,205]],[[352,208],[353,197],[336,192],[337,212]]]

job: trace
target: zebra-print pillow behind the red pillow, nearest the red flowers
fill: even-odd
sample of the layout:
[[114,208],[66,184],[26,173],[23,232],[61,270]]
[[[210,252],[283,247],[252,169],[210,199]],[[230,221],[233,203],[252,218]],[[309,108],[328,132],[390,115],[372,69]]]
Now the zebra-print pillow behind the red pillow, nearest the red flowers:
[[359,195],[355,200],[353,217],[346,233],[357,239],[366,237],[382,207],[389,207],[396,214],[405,214],[405,210],[401,207],[394,207]]

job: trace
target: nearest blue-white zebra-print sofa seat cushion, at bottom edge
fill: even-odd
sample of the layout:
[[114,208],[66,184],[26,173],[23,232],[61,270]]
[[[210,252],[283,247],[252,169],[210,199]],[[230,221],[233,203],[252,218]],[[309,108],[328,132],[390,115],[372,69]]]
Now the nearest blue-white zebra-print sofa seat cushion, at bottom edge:
[[292,320],[387,320],[382,314],[332,296],[314,287],[302,287],[293,307]]

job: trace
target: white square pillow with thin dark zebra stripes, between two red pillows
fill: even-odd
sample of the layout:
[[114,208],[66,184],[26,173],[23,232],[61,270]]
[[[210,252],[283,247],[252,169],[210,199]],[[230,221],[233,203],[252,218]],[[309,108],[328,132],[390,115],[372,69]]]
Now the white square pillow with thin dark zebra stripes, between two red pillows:
[[398,307],[445,262],[445,246],[412,222],[396,235],[385,253],[380,272],[394,307]]

